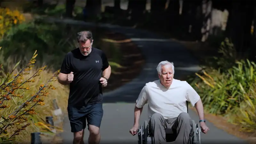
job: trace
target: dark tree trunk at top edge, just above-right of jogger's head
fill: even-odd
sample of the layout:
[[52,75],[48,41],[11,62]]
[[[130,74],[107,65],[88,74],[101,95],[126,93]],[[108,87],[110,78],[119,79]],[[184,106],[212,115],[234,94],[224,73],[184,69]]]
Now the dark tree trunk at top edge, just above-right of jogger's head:
[[89,17],[97,17],[101,13],[101,0],[86,0],[85,8]]

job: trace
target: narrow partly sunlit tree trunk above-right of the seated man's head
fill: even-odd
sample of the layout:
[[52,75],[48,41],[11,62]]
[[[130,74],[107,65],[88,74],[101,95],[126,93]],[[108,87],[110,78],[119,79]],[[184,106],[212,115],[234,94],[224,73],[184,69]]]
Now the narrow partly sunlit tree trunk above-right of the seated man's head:
[[201,29],[202,42],[205,42],[209,36],[209,30],[211,27],[211,12],[212,12],[212,1],[203,0],[202,2],[203,27]]

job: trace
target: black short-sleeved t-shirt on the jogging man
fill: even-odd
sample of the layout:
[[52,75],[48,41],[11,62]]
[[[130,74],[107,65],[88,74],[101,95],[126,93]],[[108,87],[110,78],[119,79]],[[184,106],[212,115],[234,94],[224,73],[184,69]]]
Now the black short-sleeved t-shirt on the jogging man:
[[68,52],[60,68],[60,73],[74,73],[74,79],[70,83],[68,106],[102,103],[100,77],[108,66],[108,59],[100,49],[92,47],[88,56],[82,55],[79,48]]

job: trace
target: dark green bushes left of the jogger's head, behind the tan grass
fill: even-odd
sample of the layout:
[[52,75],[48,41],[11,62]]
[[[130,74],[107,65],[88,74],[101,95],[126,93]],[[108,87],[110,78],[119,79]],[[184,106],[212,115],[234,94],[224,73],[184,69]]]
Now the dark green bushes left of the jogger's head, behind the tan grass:
[[24,59],[37,50],[41,65],[44,62],[60,66],[63,55],[74,48],[70,41],[65,41],[69,36],[63,29],[65,26],[37,22],[24,23],[12,28],[0,42],[3,47],[8,47],[3,51],[4,61],[8,58],[6,56]]

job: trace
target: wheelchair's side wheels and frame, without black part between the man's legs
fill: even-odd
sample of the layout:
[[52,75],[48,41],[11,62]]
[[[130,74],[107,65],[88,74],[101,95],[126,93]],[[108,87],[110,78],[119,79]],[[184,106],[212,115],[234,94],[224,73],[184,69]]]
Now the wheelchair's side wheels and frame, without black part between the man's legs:
[[[188,112],[188,101],[187,103],[187,112]],[[201,128],[199,124],[196,124],[194,120],[192,120],[192,129],[189,134],[189,144],[201,144]],[[168,136],[168,135],[167,135]],[[154,144],[154,136],[149,133],[148,130],[148,121],[144,121],[144,126],[140,125],[138,129],[138,144]]]

